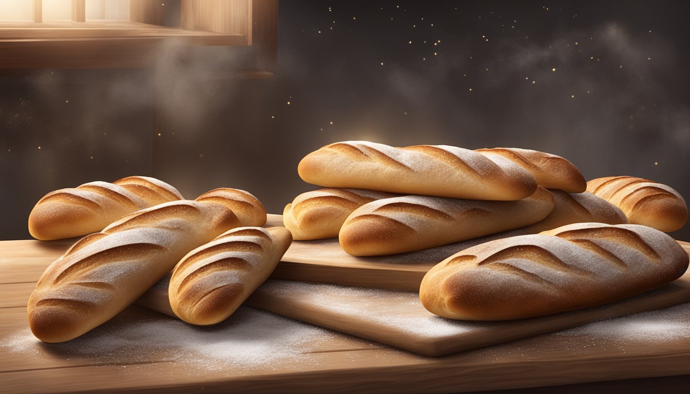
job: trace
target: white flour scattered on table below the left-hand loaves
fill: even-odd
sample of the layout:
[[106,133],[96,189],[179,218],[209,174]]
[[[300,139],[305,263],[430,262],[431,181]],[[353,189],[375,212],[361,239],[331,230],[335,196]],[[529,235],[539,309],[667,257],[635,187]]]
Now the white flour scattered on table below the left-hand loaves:
[[115,317],[61,344],[43,344],[23,328],[0,338],[0,348],[11,353],[59,353],[64,358],[99,363],[173,361],[207,371],[243,371],[308,364],[306,353],[332,335],[323,328],[242,306],[226,322],[203,327],[162,315],[149,319]]

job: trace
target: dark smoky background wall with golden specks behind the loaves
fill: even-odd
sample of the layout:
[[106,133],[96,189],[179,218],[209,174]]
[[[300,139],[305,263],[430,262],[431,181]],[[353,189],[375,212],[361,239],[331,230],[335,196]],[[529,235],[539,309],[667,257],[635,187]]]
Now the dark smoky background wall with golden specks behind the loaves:
[[273,79],[217,72],[242,63],[227,48],[175,46],[155,70],[0,77],[0,239],[28,238],[50,190],[127,175],[188,198],[242,188],[282,213],[315,188],[299,159],[349,139],[543,150],[586,179],[690,196],[689,4],[290,0]]

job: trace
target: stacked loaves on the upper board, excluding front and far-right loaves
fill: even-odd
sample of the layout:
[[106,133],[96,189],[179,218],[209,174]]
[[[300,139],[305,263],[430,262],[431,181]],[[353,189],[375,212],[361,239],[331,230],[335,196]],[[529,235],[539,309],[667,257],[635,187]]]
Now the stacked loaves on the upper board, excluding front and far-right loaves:
[[619,208],[585,191],[570,161],[536,150],[345,141],[311,152],[298,172],[326,188],[287,204],[285,226],[295,239],[339,237],[351,255],[405,253],[517,228],[627,223]]

